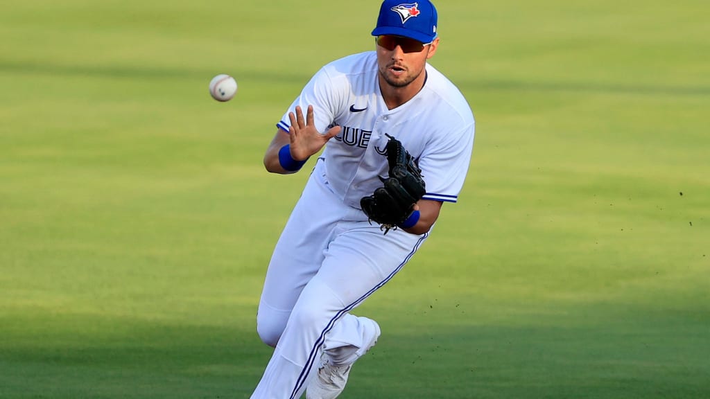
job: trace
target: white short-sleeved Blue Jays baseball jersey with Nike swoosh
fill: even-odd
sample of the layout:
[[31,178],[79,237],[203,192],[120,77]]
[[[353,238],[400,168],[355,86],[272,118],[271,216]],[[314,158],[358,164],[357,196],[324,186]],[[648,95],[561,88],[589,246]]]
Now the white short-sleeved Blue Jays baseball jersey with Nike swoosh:
[[474,116],[459,89],[435,67],[413,99],[387,109],[378,83],[374,51],[350,55],[322,67],[277,124],[288,131],[288,112],[312,105],[315,126],[342,126],[323,152],[327,181],[351,207],[387,177],[386,133],[402,142],[422,170],[423,199],[457,202],[474,144]]

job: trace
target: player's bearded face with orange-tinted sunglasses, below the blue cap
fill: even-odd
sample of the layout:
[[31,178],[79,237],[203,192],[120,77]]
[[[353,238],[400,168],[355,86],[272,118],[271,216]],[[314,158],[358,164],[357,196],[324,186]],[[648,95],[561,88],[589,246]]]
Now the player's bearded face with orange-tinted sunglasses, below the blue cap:
[[392,87],[406,87],[423,79],[427,60],[436,53],[439,38],[432,43],[421,43],[401,36],[383,35],[376,38],[377,63],[380,76]]

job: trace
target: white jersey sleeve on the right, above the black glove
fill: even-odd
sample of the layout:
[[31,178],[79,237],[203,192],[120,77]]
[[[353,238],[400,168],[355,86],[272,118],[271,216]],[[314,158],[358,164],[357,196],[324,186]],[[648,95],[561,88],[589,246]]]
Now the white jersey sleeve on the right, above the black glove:
[[474,146],[475,122],[427,146],[419,160],[427,192],[422,200],[457,202],[466,180]]

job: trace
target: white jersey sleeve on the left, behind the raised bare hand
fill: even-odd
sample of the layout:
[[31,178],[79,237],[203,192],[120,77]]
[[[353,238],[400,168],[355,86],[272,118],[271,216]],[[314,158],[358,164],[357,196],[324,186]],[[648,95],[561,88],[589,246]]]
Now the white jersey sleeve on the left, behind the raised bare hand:
[[296,106],[300,106],[303,111],[303,117],[306,117],[306,111],[309,105],[313,106],[313,119],[316,129],[321,133],[325,133],[333,124],[339,109],[344,103],[344,87],[334,82],[328,74],[328,65],[322,67],[311,80],[303,87],[301,93],[288,107],[288,111],[283,114],[281,120],[276,124],[278,129],[286,131],[291,125],[288,118],[290,112],[295,113]]

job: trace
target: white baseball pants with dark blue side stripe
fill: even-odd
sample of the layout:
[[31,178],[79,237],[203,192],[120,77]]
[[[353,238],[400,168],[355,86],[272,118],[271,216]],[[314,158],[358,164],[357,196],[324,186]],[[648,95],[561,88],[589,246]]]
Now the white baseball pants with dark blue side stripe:
[[373,323],[350,312],[385,285],[428,234],[384,235],[329,188],[323,160],[275,246],[258,307],[257,331],[275,346],[252,399],[297,399],[324,349],[368,349]]

